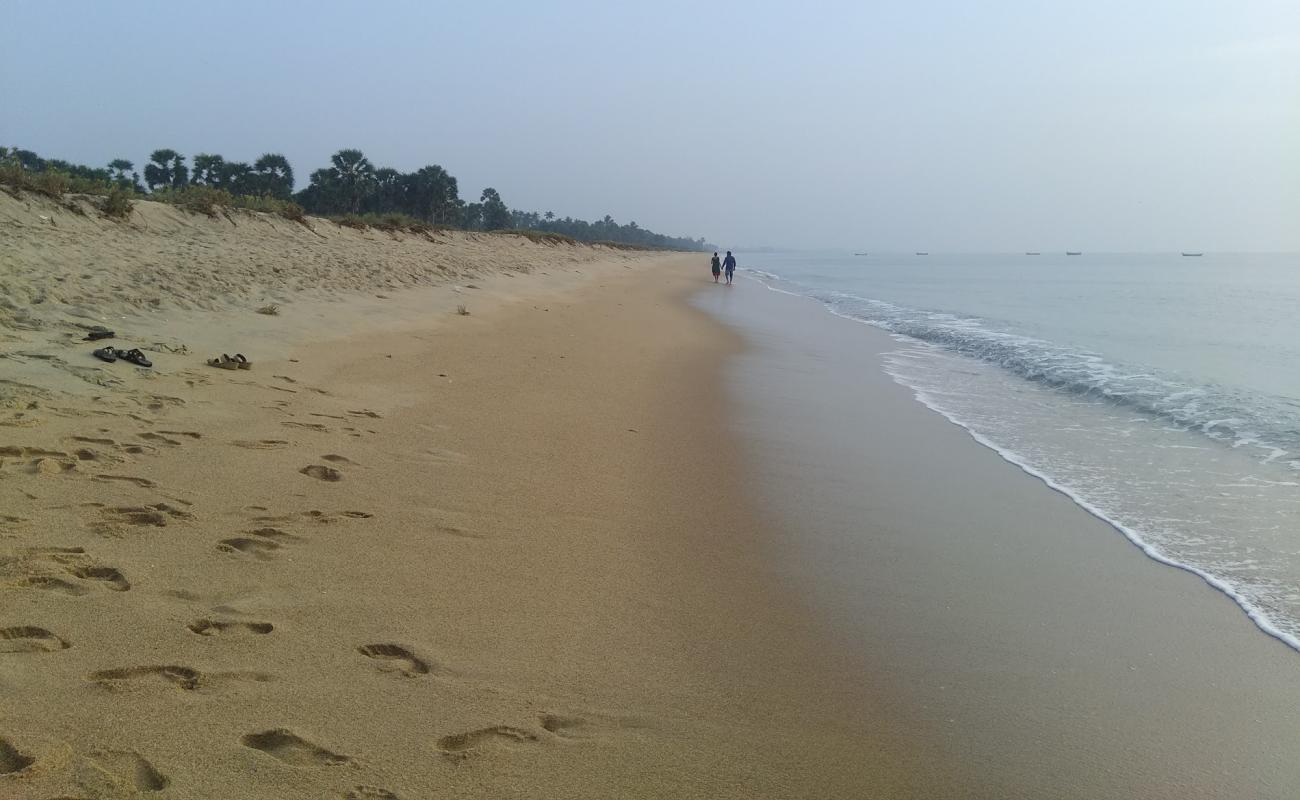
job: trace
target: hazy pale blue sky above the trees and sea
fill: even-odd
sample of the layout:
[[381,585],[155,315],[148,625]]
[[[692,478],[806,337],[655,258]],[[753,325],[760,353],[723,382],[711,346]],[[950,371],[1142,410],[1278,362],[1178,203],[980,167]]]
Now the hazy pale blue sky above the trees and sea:
[[0,144],[439,164],[722,247],[1300,251],[1296,0],[0,0]]

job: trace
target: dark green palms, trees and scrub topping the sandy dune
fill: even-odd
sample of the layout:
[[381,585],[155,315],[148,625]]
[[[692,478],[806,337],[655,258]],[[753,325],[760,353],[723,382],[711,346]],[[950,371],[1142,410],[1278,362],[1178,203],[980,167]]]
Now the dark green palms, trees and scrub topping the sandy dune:
[[670,237],[636,222],[620,225],[606,215],[595,222],[554,212],[510,208],[500,193],[488,187],[478,202],[460,199],[456,178],[436,164],[411,173],[376,168],[360,150],[341,150],[329,167],[311,173],[294,193],[294,169],[280,153],[264,153],[252,164],[226,161],[200,152],[190,164],[170,148],[155,150],[144,165],[144,182],[134,163],[114,159],[107,168],[42,159],[30,150],[0,147],[0,186],[61,199],[65,194],[103,198],[101,212],[126,219],[131,202],[151,199],[194,213],[216,217],[228,208],[278,213],[307,225],[307,215],[322,216],[347,228],[429,234],[436,230],[485,230],[528,237],[534,242],[589,242],[623,248],[710,250],[703,238]]

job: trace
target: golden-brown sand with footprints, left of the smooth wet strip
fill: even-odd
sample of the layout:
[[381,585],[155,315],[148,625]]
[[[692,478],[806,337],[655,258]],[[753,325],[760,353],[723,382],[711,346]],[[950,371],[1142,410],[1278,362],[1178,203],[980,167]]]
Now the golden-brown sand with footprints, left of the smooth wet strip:
[[0,195],[0,797],[894,793],[697,256],[315,228]]

